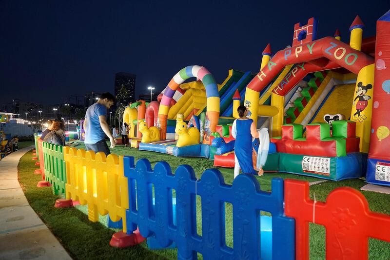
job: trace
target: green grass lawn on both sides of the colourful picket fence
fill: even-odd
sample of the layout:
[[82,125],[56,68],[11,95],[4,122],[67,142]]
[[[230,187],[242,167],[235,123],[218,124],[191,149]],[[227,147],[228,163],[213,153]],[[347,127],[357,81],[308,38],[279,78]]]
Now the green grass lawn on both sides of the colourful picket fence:
[[[84,148],[79,144],[78,148]],[[117,146],[112,152],[118,155],[134,156],[135,160],[146,158],[151,161],[152,166],[160,160],[167,161],[174,171],[181,164],[189,164],[195,169],[197,178],[200,178],[202,172],[211,168],[213,161],[202,158],[176,158],[174,156],[159,154],[154,152],[138,151],[137,149]],[[77,208],[56,209],[53,207],[58,196],[51,192],[51,188],[37,188],[39,176],[34,175],[34,161],[31,160],[31,151],[22,157],[19,164],[19,178],[27,200],[33,209],[39,214],[40,218],[51,229],[53,234],[60,240],[65,249],[75,259],[176,259],[176,250],[149,250],[146,242],[126,249],[117,249],[109,246],[108,242],[116,230],[107,228],[106,217],[102,217],[98,223],[88,220],[85,206]],[[231,184],[233,181],[233,169],[218,168],[224,176],[225,182]],[[319,180],[312,177],[297,176],[283,173],[266,173],[262,177],[256,177],[261,189],[271,190],[271,180],[274,177],[283,179],[299,179],[315,181]],[[340,186],[349,186],[360,190],[365,185],[364,180],[343,180],[326,181],[321,184],[311,186],[311,197],[315,193],[316,199],[325,201],[327,195],[335,188]],[[367,198],[370,209],[381,213],[390,214],[390,196],[372,192],[362,192]],[[197,203],[198,205],[200,203]],[[200,210],[200,207],[197,207]],[[200,214],[197,214],[199,216]],[[226,208],[227,230],[226,236],[230,239],[227,244],[232,244],[232,210],[229,206]],[[200,220],[198,220],[200,223]],[[198,224],[199,226],[199,224]],[[201,234],[201,230],[198,230]],[[310,247],[311,259],[325,259],[325,229],[323,226],[311,224],[310,226]],[[387,242],[370,239],[370,259],[390,259],[390,244]]]

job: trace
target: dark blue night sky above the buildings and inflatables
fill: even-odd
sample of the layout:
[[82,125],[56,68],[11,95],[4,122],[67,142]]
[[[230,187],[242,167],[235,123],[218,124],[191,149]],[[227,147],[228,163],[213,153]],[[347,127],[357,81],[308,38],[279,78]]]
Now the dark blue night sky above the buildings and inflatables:
[[339,28],[349,42],[356,15],[365,38],[390,9],[388,0],[143,2],[0,0],[0,105],[113,93],[120,71],[137,75],[137,97],[187,65],[221,83],[232,68],[258,72],[267,43],[273,53],[290,45],[296,22],[314,16],[317,38]]

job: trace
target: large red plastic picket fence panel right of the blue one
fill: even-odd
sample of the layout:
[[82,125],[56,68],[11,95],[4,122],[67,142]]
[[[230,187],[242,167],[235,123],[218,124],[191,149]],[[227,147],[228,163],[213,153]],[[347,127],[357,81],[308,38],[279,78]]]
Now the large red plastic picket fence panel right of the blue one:
[[327,259],[368,259],[368,238],[390,242],[390,216],[371,212],[355,189],[334,189],[326,202],[309,198],[309,182],[285,180],[286,216],[295,219],[296,259],[309,260],[309,222],[326,228]]

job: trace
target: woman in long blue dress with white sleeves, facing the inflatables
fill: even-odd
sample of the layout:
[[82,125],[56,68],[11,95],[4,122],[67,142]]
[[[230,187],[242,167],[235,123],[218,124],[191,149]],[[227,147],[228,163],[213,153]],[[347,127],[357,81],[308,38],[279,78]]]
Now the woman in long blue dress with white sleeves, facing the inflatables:
[[258,173],[254,170],[252,160],[252,138],[258,138],[259,134],[252,119],[247,118],[248,110],[245,106],[237,108],[239,119],[234,120],[232,126],[232,136],[234,142],[234,178],[240,173],[263,175],[263,169]]

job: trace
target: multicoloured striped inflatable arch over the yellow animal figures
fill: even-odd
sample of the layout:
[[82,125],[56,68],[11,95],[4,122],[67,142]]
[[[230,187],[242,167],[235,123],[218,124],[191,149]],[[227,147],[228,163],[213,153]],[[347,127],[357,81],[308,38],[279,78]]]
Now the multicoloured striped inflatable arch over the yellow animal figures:
[[215,126],[218,124],[219,92],[213,75],[206,68],[198,65],[187,66],[180,70],[165,88],[158,110],[158,126],[160,128],[161,140],[166,139],[168,112],[176,90],[181,83],[193,77],[201,80],[206,88],[207,108],[203,143],[210,143],[210,135],[212,132],[215,132]]

